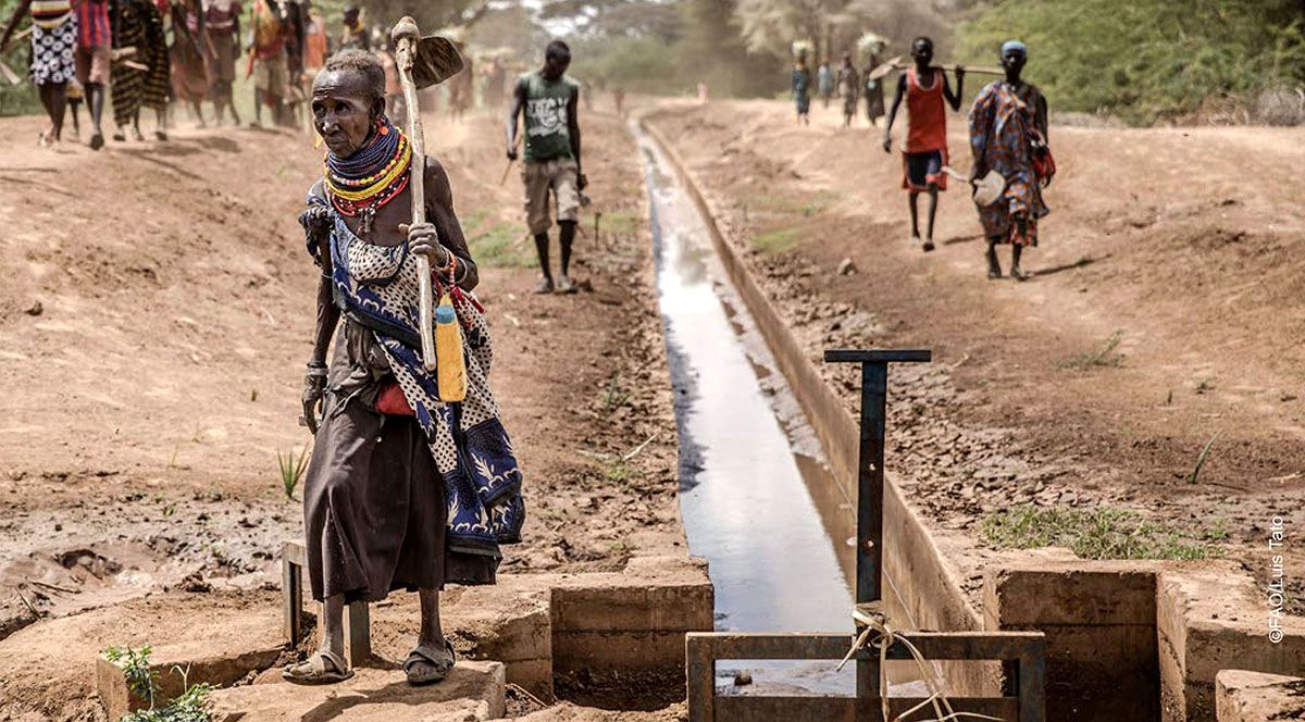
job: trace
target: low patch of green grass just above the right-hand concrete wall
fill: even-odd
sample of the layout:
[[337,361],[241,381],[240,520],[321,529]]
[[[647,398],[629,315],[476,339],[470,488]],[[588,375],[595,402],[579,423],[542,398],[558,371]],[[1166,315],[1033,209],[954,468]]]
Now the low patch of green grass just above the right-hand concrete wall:
[[1210,559],[1223,554],[1210,543],[1216,539],[1189,539],[1137,512],[1109,507],[1017,507],[985,517],[980,531],[998,548],[1060,546],[1083,559]]

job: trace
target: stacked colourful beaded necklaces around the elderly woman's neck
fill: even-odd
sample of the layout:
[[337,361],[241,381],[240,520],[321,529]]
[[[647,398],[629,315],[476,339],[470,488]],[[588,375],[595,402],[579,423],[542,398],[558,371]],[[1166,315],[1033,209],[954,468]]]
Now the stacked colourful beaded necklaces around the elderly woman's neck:
[[325,179],[330,202],[341,215],[361,217],[361,234],[372,231],[376,212],[407,188],[412,166],[412,146],[407,136],[389,119],[358,153],[339,158],[326,153]]

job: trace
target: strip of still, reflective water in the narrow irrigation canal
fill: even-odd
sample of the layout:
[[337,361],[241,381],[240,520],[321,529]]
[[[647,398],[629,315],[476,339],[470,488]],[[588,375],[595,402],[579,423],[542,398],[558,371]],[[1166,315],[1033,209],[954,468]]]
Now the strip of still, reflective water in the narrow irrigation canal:
[[[638,137],[680,431],[680,510],[690,554],[710,564],[716,629],[850,633],[853,514],[698,208],[655,142]],[[746,668],[758,685],[851,693],[852,666],[833,666],[724,662],[718,676]]]

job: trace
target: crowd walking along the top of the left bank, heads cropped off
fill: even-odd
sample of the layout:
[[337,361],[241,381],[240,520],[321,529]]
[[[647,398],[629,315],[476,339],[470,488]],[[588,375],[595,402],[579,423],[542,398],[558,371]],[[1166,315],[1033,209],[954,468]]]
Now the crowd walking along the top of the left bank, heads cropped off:
[[[346,10],[339,47],[365,43],[359,14]],[[155,137],[167,140],[174,103],[200,127],[207,123],[205,103],[214,121],[230,115],[240,124],[234,86],[241,72],[254,86],[254,121],[266,107],[273,123],[292,123],[333,44],[311,0],[21,0],[0,34],[0,52],[25,16],[30,77],[50,118],[42,145],[63,140],[69,102],[85,98],[95,150],[104,145],[110,97],[117,141],[144,138],[142,110],[155,112]]]

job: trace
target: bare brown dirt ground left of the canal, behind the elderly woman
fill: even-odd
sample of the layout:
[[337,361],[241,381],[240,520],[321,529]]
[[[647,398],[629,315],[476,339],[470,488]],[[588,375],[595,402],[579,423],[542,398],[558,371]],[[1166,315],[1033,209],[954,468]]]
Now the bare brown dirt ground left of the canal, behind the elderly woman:
[[[0,120],[0,648],[38,614],[145,595],[266,604],[279,543],[301,534],[278,454],[311,444],[296,419],[318,274],[296,217],[321,151],[252,129],[47,151],[39,125]],[[432,118],[427,133],[482,265],[491,383],[525,470],[526,541],[502,571],[683,550],[633,141],[587,119],[585,290],[535,296],[497,119]],[[81,661],[3,658],[0,719],[95,718]]]

